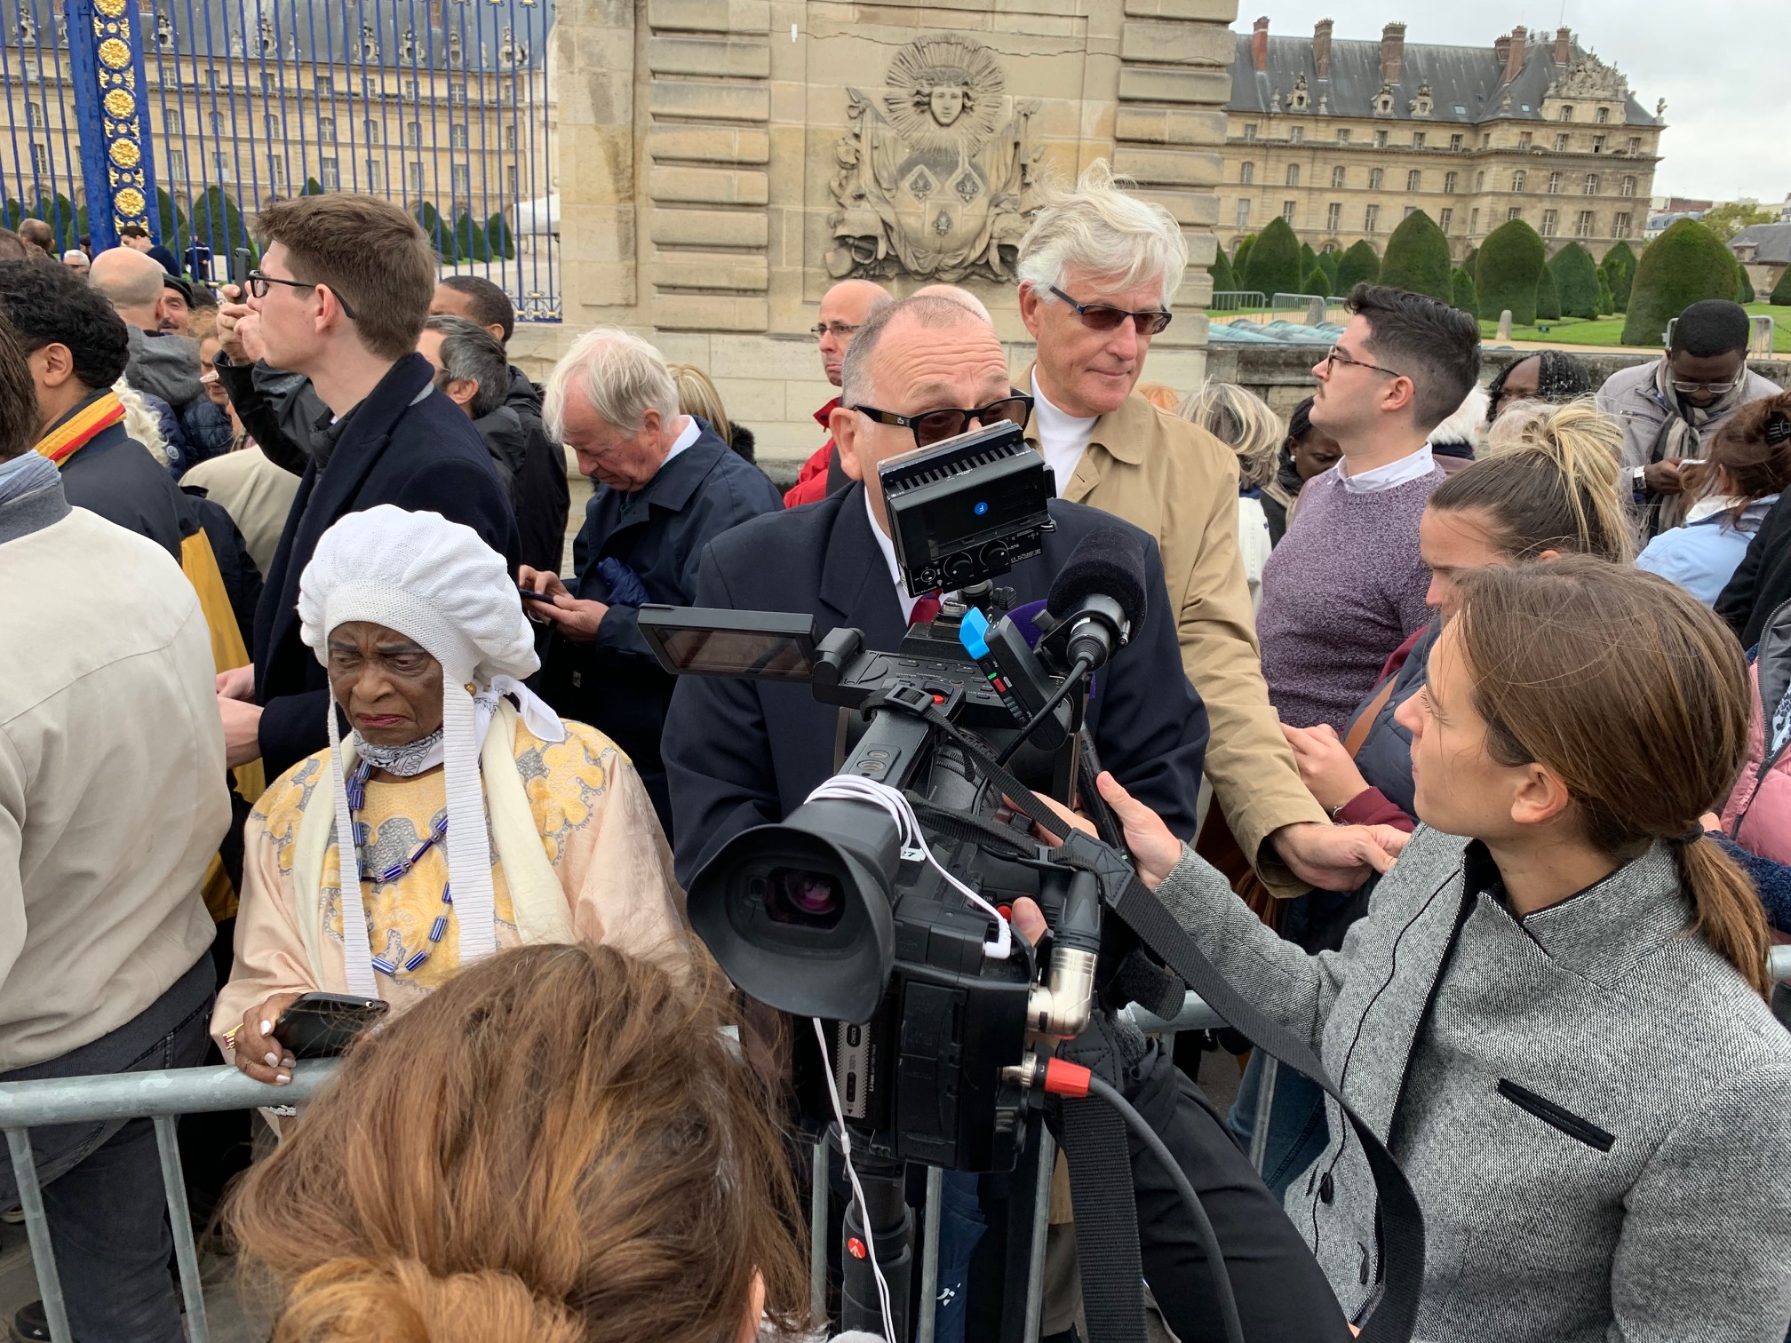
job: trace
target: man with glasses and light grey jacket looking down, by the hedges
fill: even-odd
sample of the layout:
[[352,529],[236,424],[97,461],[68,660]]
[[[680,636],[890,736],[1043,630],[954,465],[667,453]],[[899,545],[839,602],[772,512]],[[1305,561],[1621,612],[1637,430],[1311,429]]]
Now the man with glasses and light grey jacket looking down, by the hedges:
[[1777,394],[1777,383],[1748,369],[1748,310],[1727,299],[1691,304],[1658,360],[1605,380],[1598,408],[1623,424],[1644,541],[1685,519],[1678,469],[1703,457],[1703,437],[1748,401]]

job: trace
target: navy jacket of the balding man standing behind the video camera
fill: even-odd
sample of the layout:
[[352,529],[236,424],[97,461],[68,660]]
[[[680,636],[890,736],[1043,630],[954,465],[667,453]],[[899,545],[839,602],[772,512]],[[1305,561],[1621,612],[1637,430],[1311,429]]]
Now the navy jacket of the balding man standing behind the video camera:
[[[998,582],[1039,602],[1069,552],[1098,526],[1125,526],[1096,509],[1051,501],[1057,530],[1044,553]],[[1144,620],[1100,673],[1089,727],[1101,765],[1184,840],[1195,834],[1207,711],[1182,672],[1157,543],[1144,546]],[[851,625],[867,648],[894,650],[904,634],[888,564],[870,534],[865,489],[754,518],[716,539],[697,571],[700,607],[792,611],[822,632]],[[838,709],[808,686],[679,677],[666,718],[664,763],[677,818],[677,876],[686,886],[725,840],[793,811],[835,772]]]

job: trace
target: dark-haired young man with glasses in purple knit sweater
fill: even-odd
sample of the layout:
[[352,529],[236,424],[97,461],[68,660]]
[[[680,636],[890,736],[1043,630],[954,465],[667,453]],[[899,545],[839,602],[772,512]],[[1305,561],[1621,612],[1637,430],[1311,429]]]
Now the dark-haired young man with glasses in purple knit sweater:
[[1418,518],[1444,473],[1426,439],[1479,374],[1479,324],[1422,294],[1358,285],[1313,374],[1313,426],[1343,458],[1306,482],[1263,569],[1263,675],[1288,727],[1341,732],[1386,657],[1424,627]]

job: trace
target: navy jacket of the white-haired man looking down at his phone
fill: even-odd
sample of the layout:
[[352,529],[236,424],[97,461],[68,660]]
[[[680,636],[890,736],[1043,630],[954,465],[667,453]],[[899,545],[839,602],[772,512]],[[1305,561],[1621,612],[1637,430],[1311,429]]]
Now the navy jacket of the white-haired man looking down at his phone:
[[[647,596],[690,605],[697,593],[697,560],[722,532],[763,512],[779,512],[783,496],[763,471],[740,457],[709,428],[632,492],[600,485],[584,510],[573,541],[578,577],[573,596],[611,602],[614,593],[600,564],[627,566]],[[659,738],[672,702],[668,677],[641,637],[639,607],[611,605],[595,643],[553,636],[541,693],[568,718],[605,732],[621,747],[654,799],[666,834],[672,804],[666,793]]]

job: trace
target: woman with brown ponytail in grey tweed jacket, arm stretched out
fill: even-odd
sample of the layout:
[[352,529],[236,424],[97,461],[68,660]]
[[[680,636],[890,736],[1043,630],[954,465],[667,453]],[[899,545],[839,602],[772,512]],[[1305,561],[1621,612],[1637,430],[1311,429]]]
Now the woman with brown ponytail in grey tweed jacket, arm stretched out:
[[[1144,883],[1406,1171],[1415,1338],[1778,1343],[1791,1035],[1759,901],[1700,825],[1746,747],[1741,650],[1682,589],[1590,557],[1456,582],[1399,711],[1422,824],[1341,951],[1282,942],[1109,775],[1101,793]],[[1336,1114],[1286,1207],[1361,1323],[1383,1245]]]

